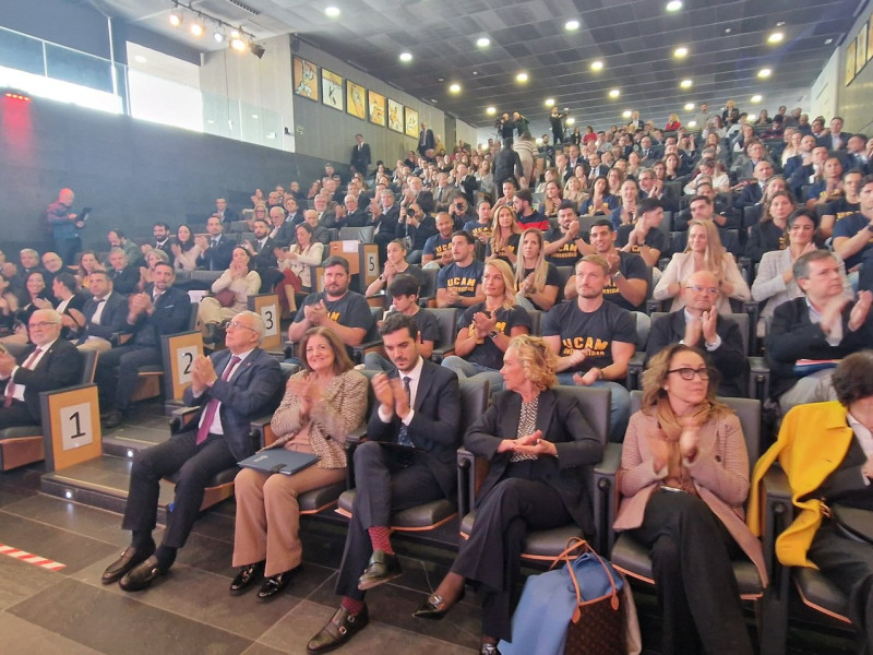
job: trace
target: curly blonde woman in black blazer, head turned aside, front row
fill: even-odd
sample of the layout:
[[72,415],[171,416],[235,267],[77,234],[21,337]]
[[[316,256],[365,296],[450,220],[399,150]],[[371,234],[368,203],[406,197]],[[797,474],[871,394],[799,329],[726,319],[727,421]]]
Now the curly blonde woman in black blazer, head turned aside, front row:
[[501,369],[506,391],[464,437],[468,450],[491,463],[476,523],[451,572],[415,612],[441,619],[463,595],[465,581],[478,581],[485,593],[483,654],[512,636],[512,592],[527,531],[575,522],[594,533],[586,466],[600,461],[603,446],[575,397],[552,389],[555,366],[541,338],[525,334],[510,342]]

